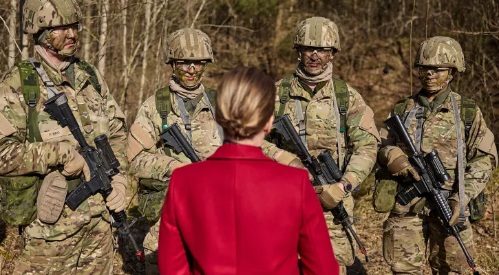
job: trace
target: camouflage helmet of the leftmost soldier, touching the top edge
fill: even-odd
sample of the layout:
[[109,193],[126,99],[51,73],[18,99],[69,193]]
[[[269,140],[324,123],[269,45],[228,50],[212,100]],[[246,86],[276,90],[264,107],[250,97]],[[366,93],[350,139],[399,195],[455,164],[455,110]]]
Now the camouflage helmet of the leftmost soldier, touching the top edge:
[[78,21],[81,11],[75,0],[26,0],[23,5],[23,31],[27,34]]

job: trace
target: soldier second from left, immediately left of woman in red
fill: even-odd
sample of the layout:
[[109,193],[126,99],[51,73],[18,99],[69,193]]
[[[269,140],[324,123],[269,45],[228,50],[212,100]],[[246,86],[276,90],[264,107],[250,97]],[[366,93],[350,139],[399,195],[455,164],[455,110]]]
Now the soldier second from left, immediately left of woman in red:
[[152,224],[144,240],[147,274],[159,274],[159,218],[171,173],[190,163],[160,142],[159,134],[177,123],[200,159],[223,140],[214,116],[215,90],[201,84],[207,63],[214,62],[209,37],[200,30],[177,30],[167,40],[165,58],[173,68],[169,85],[142,104],[128,137],[130,173],[140,180],[139,211]]

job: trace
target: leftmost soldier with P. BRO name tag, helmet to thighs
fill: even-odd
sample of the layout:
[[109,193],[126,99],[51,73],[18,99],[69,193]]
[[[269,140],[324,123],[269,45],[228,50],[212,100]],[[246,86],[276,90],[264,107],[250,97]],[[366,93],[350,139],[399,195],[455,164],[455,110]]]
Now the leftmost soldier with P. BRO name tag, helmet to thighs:
[[[74,0],[27,0],[23,31],[34,37],[34,58],[0,83],[0,183],[3,219],[19,225],[23,249],[14,274],[109,274],[114,258],[109,210],[125,208],[125,115],[98,70],[75,57],[81,12]],[[64,93],[85,140],[105,134],[122,168],[107,203],[100,194],[75,211],[65,196],[89,168],[67,127],[43,111]],[[59,168],[59,170],[58,170]],[[60,172],[59,172],[60,171]]]

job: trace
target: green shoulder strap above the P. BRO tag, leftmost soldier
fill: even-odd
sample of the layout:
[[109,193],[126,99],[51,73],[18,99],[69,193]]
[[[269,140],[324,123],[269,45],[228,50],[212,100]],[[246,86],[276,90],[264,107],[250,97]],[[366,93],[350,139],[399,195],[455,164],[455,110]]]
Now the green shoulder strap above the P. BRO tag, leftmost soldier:
[[28,141],[30,143],[41,142],[38,111],[36,110],[36,104],[40,100],[39,76],[30,61],[21,61],[16,66],[19,68],[24,102],[28,105]]

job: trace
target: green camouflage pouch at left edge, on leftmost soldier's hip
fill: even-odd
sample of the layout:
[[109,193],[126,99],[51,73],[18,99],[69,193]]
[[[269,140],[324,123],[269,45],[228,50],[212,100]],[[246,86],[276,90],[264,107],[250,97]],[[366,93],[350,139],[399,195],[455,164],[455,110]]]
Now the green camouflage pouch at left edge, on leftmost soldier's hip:
[[36,197],[41,186],[39,177],[0,177],[1,217],[12,225],[28,225],[36,219]]

